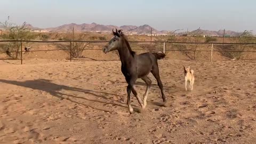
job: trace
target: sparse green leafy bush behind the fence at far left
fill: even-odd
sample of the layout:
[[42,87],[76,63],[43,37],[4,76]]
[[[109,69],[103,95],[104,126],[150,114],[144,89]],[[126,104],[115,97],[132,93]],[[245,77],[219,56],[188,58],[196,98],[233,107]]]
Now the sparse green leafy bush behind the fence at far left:
[[[23,22],[21,26],[18,26],[9,21],[10,17],[5,22],[0,22],[2,27],[7,31],[7,34],[1,35],[2,38],[15,40],[15,41],[26,41],[34,38],[29,28],[26,27],[26,22]],[[6,54],[13,59],[18,59],[20,54],[21,44],[20,42],[9,42],[6,47]]]

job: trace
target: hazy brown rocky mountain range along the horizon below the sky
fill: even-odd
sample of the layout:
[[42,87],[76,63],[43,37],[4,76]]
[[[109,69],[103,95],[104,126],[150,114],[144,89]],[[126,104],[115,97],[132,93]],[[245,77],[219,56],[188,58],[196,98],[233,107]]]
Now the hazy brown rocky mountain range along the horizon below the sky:
[[[126,34],[138,34],[138,35],[149,35],[150,31],[152,29],[152,34],[156,35],[167,35],[169,34],[169,31],[167,30],[157,30],[149,25],[143,25],[143,26],[113,26],[113,25],[100,25],[98,23],[82,23],[80,25],[76,23],[70,23],[67,25],[62,25],[58,27],[53,27],[53,28],[46,28],[46,29],[40,29],[37,27],[33,27],[29,23],[26,24],[27,28],[30,28],[31,30],[46,30],[54,33],[70,33],[73,30],[75,31],[104,31],[107,33],[111,33],[112,29],[122,29],[125,31]],[[3,27],[0,26],[0,29],[3,29]],[[187,32],[182,32],[182,33],[175,33],[177,35],[186,35]],[[218,31],[213,31],[213,30],[203,30],[201,28],[198,28],[196,30],[190,31],[188,33],[189,35],[207,35],[207,36],[223,36],[223,30],[218,30]],[[231,30],[225,30],[225,35],[229,36],[239,36],[242,33],[238,33],[235,31]]]

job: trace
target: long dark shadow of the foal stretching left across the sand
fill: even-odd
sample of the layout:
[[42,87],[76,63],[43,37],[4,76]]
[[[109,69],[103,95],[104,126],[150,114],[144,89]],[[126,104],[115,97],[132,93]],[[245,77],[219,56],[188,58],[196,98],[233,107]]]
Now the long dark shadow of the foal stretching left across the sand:
[[[6,83],[6,84],[13,84],[13,85],[18,85],[18,86],[23,86],[23,87],[27,87],[33,90],[40,90],[40,91],[45,91],[47,93],[50,93],[51,95],[53,95],[54,97],[63,99],[63,96],[66,95],[68,97],[73,97],[73,98],[78,98],[78,99],[84,99],[87,101],[93,101],[93,102],[99,102],[99,103],[106,103],[106,104],[111,104],[111,105],[116,105],[119,107],[124,107],[127,108],[125,105],[125,103],[119,102],[119,101],[115,101],[115,100],[111,100],[111,101],[115,101],[115,103],[110,103],[110,102],[105,102],[105,101],[99,101],[99,100],[91,100],[85,97],[78,97],[76,95],[71,95],[71,94],[65,94],[65,93],[61,93],[59,91],[61,90],[70,90],[70,91],[77,91],[77,92],[83,92],[83,93],[87,93],[87,94],[92,94],[95,97],[99,97],[99,98],[103,98],[106,100],[109,100],[107,96],[109,95],[115,95],[115,94],[111,94],[111,93],[106,93],[106,92],[98,92],[98,91],[92,91],[92,90],[84,90],[84,89],[80,89],[77,87],[70,87],[70,86],[66,86],[66,85],[58,85],[58,84],[54,84],[51,83],[50,80],[48,79],[36,79],[36,80],[31,80],[31,81],[24,81],[24,82],[20,82],[20,81],[9,81],[9,80],[5,80],[5,79],[0,79],[0,82],[2,83]],[[74,100],[70,100],[69,98],[67,98],[67,100],[71,101],[71,102],[75,102],[81,105],[85,105],[84,103],[79,103],[77,101]],[[91,107],[93,109],[97,109],[97,110],[102,110],[105,112],[110,112],[108,110],[103,110],[103,109],[98,109],[89,105],[85,105],[88,107]]]

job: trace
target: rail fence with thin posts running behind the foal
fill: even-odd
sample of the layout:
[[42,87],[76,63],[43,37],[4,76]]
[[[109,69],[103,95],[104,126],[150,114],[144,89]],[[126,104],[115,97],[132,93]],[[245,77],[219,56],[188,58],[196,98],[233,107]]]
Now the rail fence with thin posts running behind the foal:
[[[21,64],[22,64],[22,52],[44,52],[44,51],[70,51],[70,61],[71,61],[71,47],[73,42],[77,43],[108,43],[109,41],[17,41],[17,40],[0,40],[0,43],[4,42],[19,42],[20,46],[22,47],[22,43],[70,43],[66,46],[69,46],[69,49],[53,49],[53,50],[29,50],[29,51],[23,51],[22,49],[19,51],[0,51],[0,53],[20,53],[21,55]],[[188,52],[211,52],[211,61],[212,61],[212,52],[256,52],[256,51],[226,51],[226,50],[213,50],[213,44],[215,45],[256,45],[256,43],[216,43],[216,42],[171,42],[171,41],[129,41],[129,43],[163,43],[163,49],[161,48],[155,48],[154,50],[160,50],[163,52],[166,51],[188,51]],[[180,49],[172,49],[172,50],[166,50],[165,44],[211,44],[211,50],[180,50]],[[102,50],[102,49],[75,49],[75,50]],[[135,51],[149,51],[148,49],[133,49]]]

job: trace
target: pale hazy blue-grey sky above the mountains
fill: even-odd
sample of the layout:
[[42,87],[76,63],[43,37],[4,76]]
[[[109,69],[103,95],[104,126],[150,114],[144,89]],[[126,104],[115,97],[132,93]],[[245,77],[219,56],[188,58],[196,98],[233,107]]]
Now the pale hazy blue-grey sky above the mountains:
[[158,30],[198,27],[256,31],[255,0],[0,0],[0,21],[26,21],[35,27],[68,23],[148,24]]

